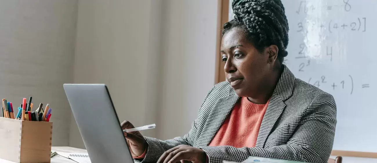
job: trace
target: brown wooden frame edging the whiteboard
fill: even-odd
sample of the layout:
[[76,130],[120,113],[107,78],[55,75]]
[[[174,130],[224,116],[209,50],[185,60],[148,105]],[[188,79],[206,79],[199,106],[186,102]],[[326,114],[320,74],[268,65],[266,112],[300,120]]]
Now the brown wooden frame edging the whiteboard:
[[[225,81],[224,62],[221,61],[220,45],[221,45],[221,30],[222,25],[229,20],[229,0],[218,0],[218,34],[216,43],[216,72],[215,72],[215,84]],[[374,152],[356,152],[356,151],[339,151],[333,150],[331,155],[346,156],[346,157],[366,157],[377,158],[377,153]]]

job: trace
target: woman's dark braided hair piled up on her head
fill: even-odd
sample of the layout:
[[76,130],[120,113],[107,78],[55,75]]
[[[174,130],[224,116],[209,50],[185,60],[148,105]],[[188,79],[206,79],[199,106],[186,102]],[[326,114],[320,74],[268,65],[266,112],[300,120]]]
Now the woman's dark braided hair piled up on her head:
[[288,21],[280,0],[233,0],[234,19],[225,23],[222,35],[234,27],[244,30],[248,41],[259,52],[265,47],[276,45],[277,59],[282,64],[288,52]]

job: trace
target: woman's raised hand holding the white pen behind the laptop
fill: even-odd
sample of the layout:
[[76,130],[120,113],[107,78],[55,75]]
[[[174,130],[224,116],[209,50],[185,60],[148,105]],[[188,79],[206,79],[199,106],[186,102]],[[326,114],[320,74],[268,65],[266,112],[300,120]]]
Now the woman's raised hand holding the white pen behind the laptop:
[[[121,124],[122,129],[135,128],[132,123],[128,121],[123,121]],[[144,139],[143,135],[139,131],[134,131],[130,133],[124,133],[128,147],[130,149],[132,157],[138,157],[143,155],[147,148],[147,142]]]

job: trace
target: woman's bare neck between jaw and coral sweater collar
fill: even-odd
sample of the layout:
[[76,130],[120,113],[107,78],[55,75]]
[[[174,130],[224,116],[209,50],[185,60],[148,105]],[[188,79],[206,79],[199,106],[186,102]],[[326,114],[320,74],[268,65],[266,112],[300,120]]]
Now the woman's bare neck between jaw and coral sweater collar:
[[274,93],[282,70],[282,68],[274,69],[271,75],[269,75],[269,77],[264,82],[262,82],[261,87],[259,87],[260,89],[258,89],[257,92],[254,93],[255,96],[247,97],[247,99],[254,104],[266,104]]

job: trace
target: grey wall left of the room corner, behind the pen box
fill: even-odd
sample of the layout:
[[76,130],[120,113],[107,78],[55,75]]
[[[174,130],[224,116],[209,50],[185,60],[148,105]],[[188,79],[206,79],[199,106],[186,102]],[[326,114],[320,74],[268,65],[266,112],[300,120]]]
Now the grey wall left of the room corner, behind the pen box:
[[0,0],[0,98],[15,112],[22,98],[53,108],[52,145],[69,142],[77,0]]

